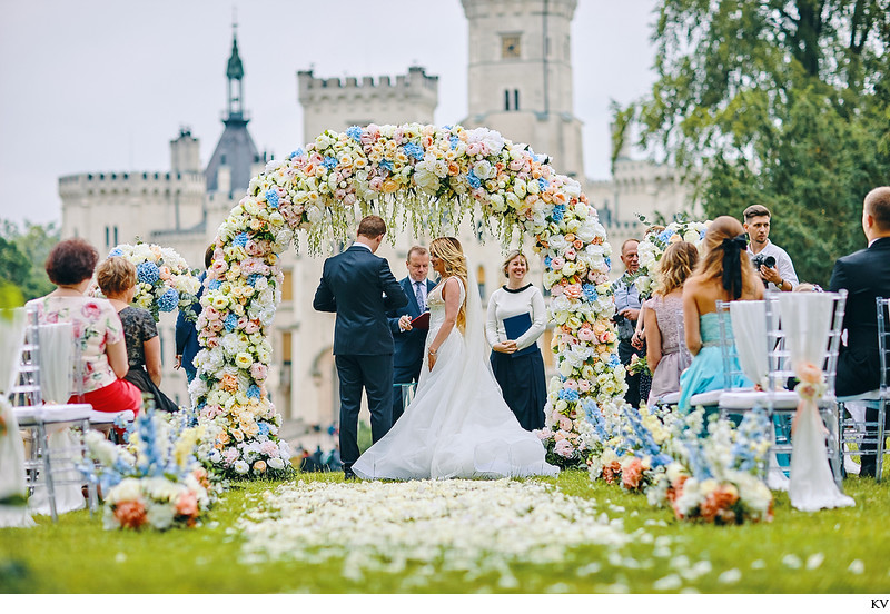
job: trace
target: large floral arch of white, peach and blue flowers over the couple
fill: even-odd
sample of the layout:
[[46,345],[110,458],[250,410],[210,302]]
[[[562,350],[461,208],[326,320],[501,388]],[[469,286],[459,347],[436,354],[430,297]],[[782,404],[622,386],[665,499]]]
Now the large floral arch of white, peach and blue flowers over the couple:
[[392,227],[400,214],[415,235],[436,236],[481,211],[502,240],[517,229],[534,238],[553,296],[560,373],[548,386],[542,438],[551,460],[583,465],[585,415],[626,389],[611,324],[611,247],[581,185],[547,161],[486,128],[409,123],[325,131],[269,162],[219,227],[201,298],[190,392],[216,469],[236,478],[288,471],[280,416],[265,388],[278,254],[300,229],[313,254],[332,238],[346,241],[357,216],[372,212]]

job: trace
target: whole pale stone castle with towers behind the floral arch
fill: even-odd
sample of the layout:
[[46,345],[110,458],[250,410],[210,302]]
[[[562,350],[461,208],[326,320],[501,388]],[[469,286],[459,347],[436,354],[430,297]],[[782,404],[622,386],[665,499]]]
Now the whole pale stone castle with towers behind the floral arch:
[[[462,0],[469,26],[467,67],[467,128],[484,126],[506,138],[547,154],[557,172],[574,177],[585,188],[610,232],[615,251],[643,228],[635,214],[665,216],[688,209],[688,191],[669,167],[633,160],[621,151],[611,181],[591,181],[583,172],[582,122],[572,105],[571,23],[576,0]],[[199,141],[181,129],[170,141],[170,170],[89,172],[61,177],[62,236],[80,236],[108,252],[135,237],[172,247],[191,267],[201,268],[204,251],[229,210],[240,200],[267,156],[260,154],[247,129],[244,107],[244,65],[237,38],[228,59],[228,100],[224,132],[206,167]],[[353,125],[433,123],[438,78],[412,66],[407,75],[360,80],[325,79],[312,70],[297,72],[298,100],[304,110],[304,140],[324,130],[343,131]],[[397,278],[405,276],[408,248],[432,237],[411,237],[392,229],[392,242],[378,255],[389,259]],[[484,229],[467,224],[458,230],[467,258],[476,267],[483,301],[503,283],[502,249]],[[338,249],[339,246],[330,246]],[[613,257],[617,263],[617,256]],[[338,417],[337,376],[332,355],[334,316],[312,309],[322,275],[322,258],[290,249],[283,255],[281,304],[271,331],[275,348],[267,388],[287,420],[327,427]],[[532,258],[530,278],[540,285],[541,264]],[[619,264],[617,268],[621,266]],[[616,270],[616,273],[620,273]],[[188,403],[185,374],[172,369],[172,314],[158,325],[164,356],[162,389],[180,404]],[[550,331],[540,341],[550,346]],[[544,351],[548,369],[550,351]]]

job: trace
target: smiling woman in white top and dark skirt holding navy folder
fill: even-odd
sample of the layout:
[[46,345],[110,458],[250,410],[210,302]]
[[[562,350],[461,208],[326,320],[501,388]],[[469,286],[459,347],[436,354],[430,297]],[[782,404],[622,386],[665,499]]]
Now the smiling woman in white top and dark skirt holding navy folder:
[[[540,429],[544,428],[547,400],[544,358],[537,347],[537,338],[546,328],[544,297],[541,290],[525,283],[528,260],[522,251],[511,251],[503,270],[507,283],[492,293],[485,323],[485,336],[492,346],[492,370],[520,425],[526,430]],[[504,320],[518,321],[511,320],[516,317],[524,320],[521,329],[526,325],[528,328],[511,339]]]

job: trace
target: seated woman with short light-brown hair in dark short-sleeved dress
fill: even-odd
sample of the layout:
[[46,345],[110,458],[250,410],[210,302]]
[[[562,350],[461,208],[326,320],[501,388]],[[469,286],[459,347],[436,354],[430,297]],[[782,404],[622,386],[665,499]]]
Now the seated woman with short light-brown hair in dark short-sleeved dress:
[[155,398],[155,408],[176,412],[176,404],[160,392],[160,337],[155,318],[146,309],[131,307],[136,295],[136,266],[120,256],[99,265],[99,288],[123,325],[129,370],[125,379]]

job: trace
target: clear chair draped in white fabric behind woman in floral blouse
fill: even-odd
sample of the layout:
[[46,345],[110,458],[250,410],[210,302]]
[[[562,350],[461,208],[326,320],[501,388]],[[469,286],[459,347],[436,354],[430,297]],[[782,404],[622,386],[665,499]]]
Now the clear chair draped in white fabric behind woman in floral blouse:
[[[57,522],[59,514],[85,506],[82,471],[89,464],[85,463],[83,435],[90,428],[92,407],[67,403],[73,373],[71,325],[39,325],[33,310],[27,317],[17,384],[10,392],[18,426],[31,442],[24,460],[29,507],[38,514],[49,513]],[[95,481],[86,483],[92,514],[97,508]]]

